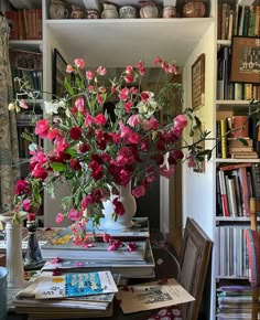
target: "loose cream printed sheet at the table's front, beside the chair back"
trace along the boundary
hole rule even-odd
[[[174,278],[121,287],[116,294],[123,313],[163,308],[195,300]]]

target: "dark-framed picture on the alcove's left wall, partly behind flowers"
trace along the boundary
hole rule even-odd
[[[62,97],[65,93],[64,79],[66,76],[67,63],[58,52],[54,49],[53,52],[53,98]]]

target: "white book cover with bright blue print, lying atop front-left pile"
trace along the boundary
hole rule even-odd
[[[35,299],[71,298],[117,291],[118,288],[110,271],[66,274],[41,277]]]

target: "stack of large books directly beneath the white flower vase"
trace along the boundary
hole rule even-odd
[[[108,269],[120,274],[122,279],[129,278],[153,278],[154,257],[150,243],[150,230],[148,217],[133,218],[133,227],[127,230],[105,230],[102,220],[100,227],[93,230],[88,226],[87,235],[89,245],[75,245],[71,228],[59,231],[56,236],[41,246],[41,252],[46,264],[43,270],[56,268],[65,271],[89,271]],[[104,234],[109,234],[113,239],[119,239],[121,247],[109,250],[109,244],[102,241]],[[95,234],[95,238],[93,235]],[[134,243],[133,250],[128,250],[128,245]],[[53,259],[58,263],[53,263]]]

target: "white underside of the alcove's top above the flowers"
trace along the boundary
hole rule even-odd
[[[213,23],[213,18],[46,20],[67,56],[84,58],[88,67],[124,67],[144,57],[151,67],[156,56],[182,66]]]

